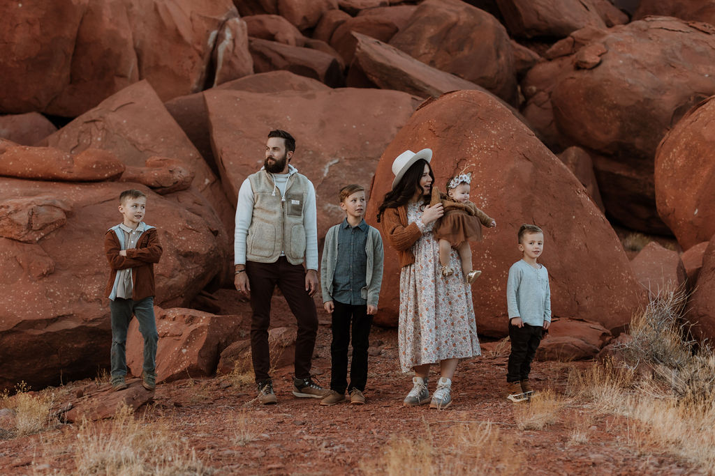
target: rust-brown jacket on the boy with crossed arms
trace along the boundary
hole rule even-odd
[[[109,298],[114,288],[117,270],[132,268],[132,300],[142,300],[155,295],[154,263],[159,263],[162,245],[159,244],[157,228],[149,228],[139,237],[136,248],[129,248],[127,255],[119,255],[122,250],[117,233],[110,229],[104,235],[104,253],[109,261],[109,281],[104,295]]]

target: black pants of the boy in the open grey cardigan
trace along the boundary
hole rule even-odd
[[[345,389],[357,388],[365,391],[368,383],[368,347],[370,347],[370,327],[373,316],[368,315],[367,305],[350,305],[333,301],[332,343],[330,357],[332,370],[330,389],[345,393]],[[350,386],[347,385],[347,345],[350,343],[350,323],[352,320],[352,365],[350,365]]]

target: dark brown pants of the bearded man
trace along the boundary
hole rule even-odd
[[[275,263],[246,262],[246,273],[251,286],[251,357],[256,383],[270,380],[270,350],[268,327],[270,303],[277,285],[298,324],[295,340],[295,377],[310,377],[310,360],[315,348],[317,312],[315,301],[305,290],[305,269],[288,263],[281,256]]]

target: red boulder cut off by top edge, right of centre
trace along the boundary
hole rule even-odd
[[[584,26],[605,28],[590,0],[496,0],[512,36],[563,38]]]

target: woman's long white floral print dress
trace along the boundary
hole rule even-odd
[[[418,203],[407,206],[408,223],[422,218]],[[415,263],[400,274],[400,323],[398,343],[400,366],[407,373],[415,365],[438,363],[450,358],[480,355],[477,325],[472,305],[472,290],[464,282],[456,250],[450,253],[455,273],[440,274],[439,243],[433,223],[423,226],[423,235],[412,251]]]

